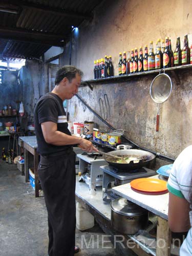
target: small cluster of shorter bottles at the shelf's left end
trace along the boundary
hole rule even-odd
[[[112,56],[94,60],[94,79],[114,76]]]

